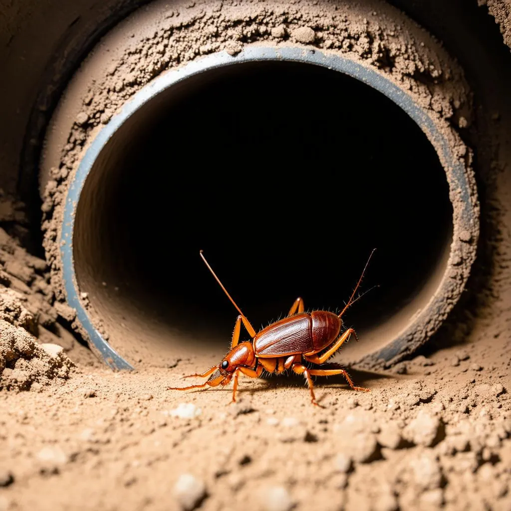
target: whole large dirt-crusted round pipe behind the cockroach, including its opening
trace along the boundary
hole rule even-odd
[[[462,73],[388,6],[376,48],[372,10],[343,21],[350,46],[325,5],[315,29],[267,14],[243,39],[219,35],[234,8],[183,22],[155,4],[69,84],[42,160],[44,245],[75,328],[112,368],[221,356],[237,313],[199,249],[266,325],[297,296],[342,308],[377,248],[361,291],[379,287],[344,318],[360,337],[346,363],[401,360],[456,304],[479,229]]]

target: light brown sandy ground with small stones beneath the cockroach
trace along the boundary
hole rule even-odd
[[[318,379],[321,408],[299,377],[244,379],[231,405],[230,388],[166,390],[213,359],[79,363],[0,392],[0,509],[511,509],[510,358],[488,325],[393,373],[353,371],[368,393]]]

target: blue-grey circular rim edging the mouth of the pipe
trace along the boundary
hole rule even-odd
[[[306,49],[303,47],[262,47],[253,46],[246,47],[236,56],[231,56],[227,52],[219,52],[208,55],[192,61],[178,69],[173,69],[167,73],[160,75],[148,85],[128,100],[122,109],[115,114],[109,123],[103,127],[91,141],[89,147],[85,151],[78,169],[69,183],[65,206],[63,212],[63,223],[61,229],[60,252],[62,258],[63,286],[67,295],[67,303],[76,310],[78,321],[89,336],[91,348],[95,350],[104,362],[112,369],[133,369],[133,366],[119,355],[108,342],[102,337],[100,332],[95,328],[87,311],[84,309],[80,300],[80,290],[76,279],[74,255],[73,255],[73,232],[74,219],[80,195],[83,190],[85,181],[89,172],[92,170],[97,157],[106,146],[113,134],[120,126],[139,108],[151,101],[160,92],[180,83],[194,75],[202,72],[211,71],[228,65],[234,65],[246,62],[263,62],[263,61],[293,61],[305,64],[314,64],[332,69],[334,71],[344,73],[352,78],[362,81],[363,83],[373,87],[381,92],[387,98],[392,100],[400,108],[402,108],[409,117],[421,128],[426,137],[433,145],[435,151],[440,157],[440,161],[446,171],[450,194],[455,189],[463,207],[456,214],[454,210],[453,224],[455,227],[453,240],[451,244],[450,254],[456,250],[462,250],[463,243],[467,242],[467,235],[461,239],[456,235],[456,229],[459,232],[468,233],[469,242],[476,241],[478,238],[478,217],[472,207],[474,200],[474,191],[471,182],[467,176],[467,169],[462,160],[457,158],[450,147],[447,138],[439,131],[435,121],[430,117],[428,112],[417,104],[413,98],[406,94],[396,83],[384,76],[382,73],[370,68],[360,62],[342,57],[338,54],[319,51],[316,49]],[[452,201],[451,201],[452,202]],[[464,283],[470,274],[475,256],[471,256],[468,265],[458,269],[458,273],[462,273],[463,286],[457,288],[457,285],[449,278],[449,270],[452,268],[452,257],[449,258],[447,268],[445,270],[442,281],[433,293],[429,302],[423,310],[417,314],[412,322],[391,342],[383,348],[370,353],[362,358],[383,359],[384,361],[396,360],[400,354],[403,354],[409,343],[414,340],[415,333],[419,328],[427,326],[428,334],[421,342],[416,342],[414,348],[426,342],[443,322],[443,319],[435,319],[445,317],[446,313],[454,307],[459,298]],[[446,304],[443,297],[450,296],[449,303]],[[404,355],[403,355],[404,356]],[[397,360],[396,360],[397,361]]]

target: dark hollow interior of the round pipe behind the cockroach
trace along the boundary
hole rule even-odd
[[[76,210],[74,260],[109,342],[132,362],[220,357],[237,315],[258,329],[340,310],[367,257],[370,291],[343,319],[354,356],[387,344],[436,291],[453,210],[419,126],[368,85],[295,62],[224,66],[138,109],[111,137]],[[342,357],[341,357],[342,359]]]

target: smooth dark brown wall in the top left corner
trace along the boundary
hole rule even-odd
[[[138,2],[141,4],[142,2]],[[73,51],[79,51],[88,34],[100,32],[115,10],[128,12],[135,2],[108,0],[2,0],[0,2],[0,188],[7,193],[16,181],[25,131],[39,84],[50,62],[59,55],[54,71],[66,73]],[[58,77],[55,77],[58,78]]]

